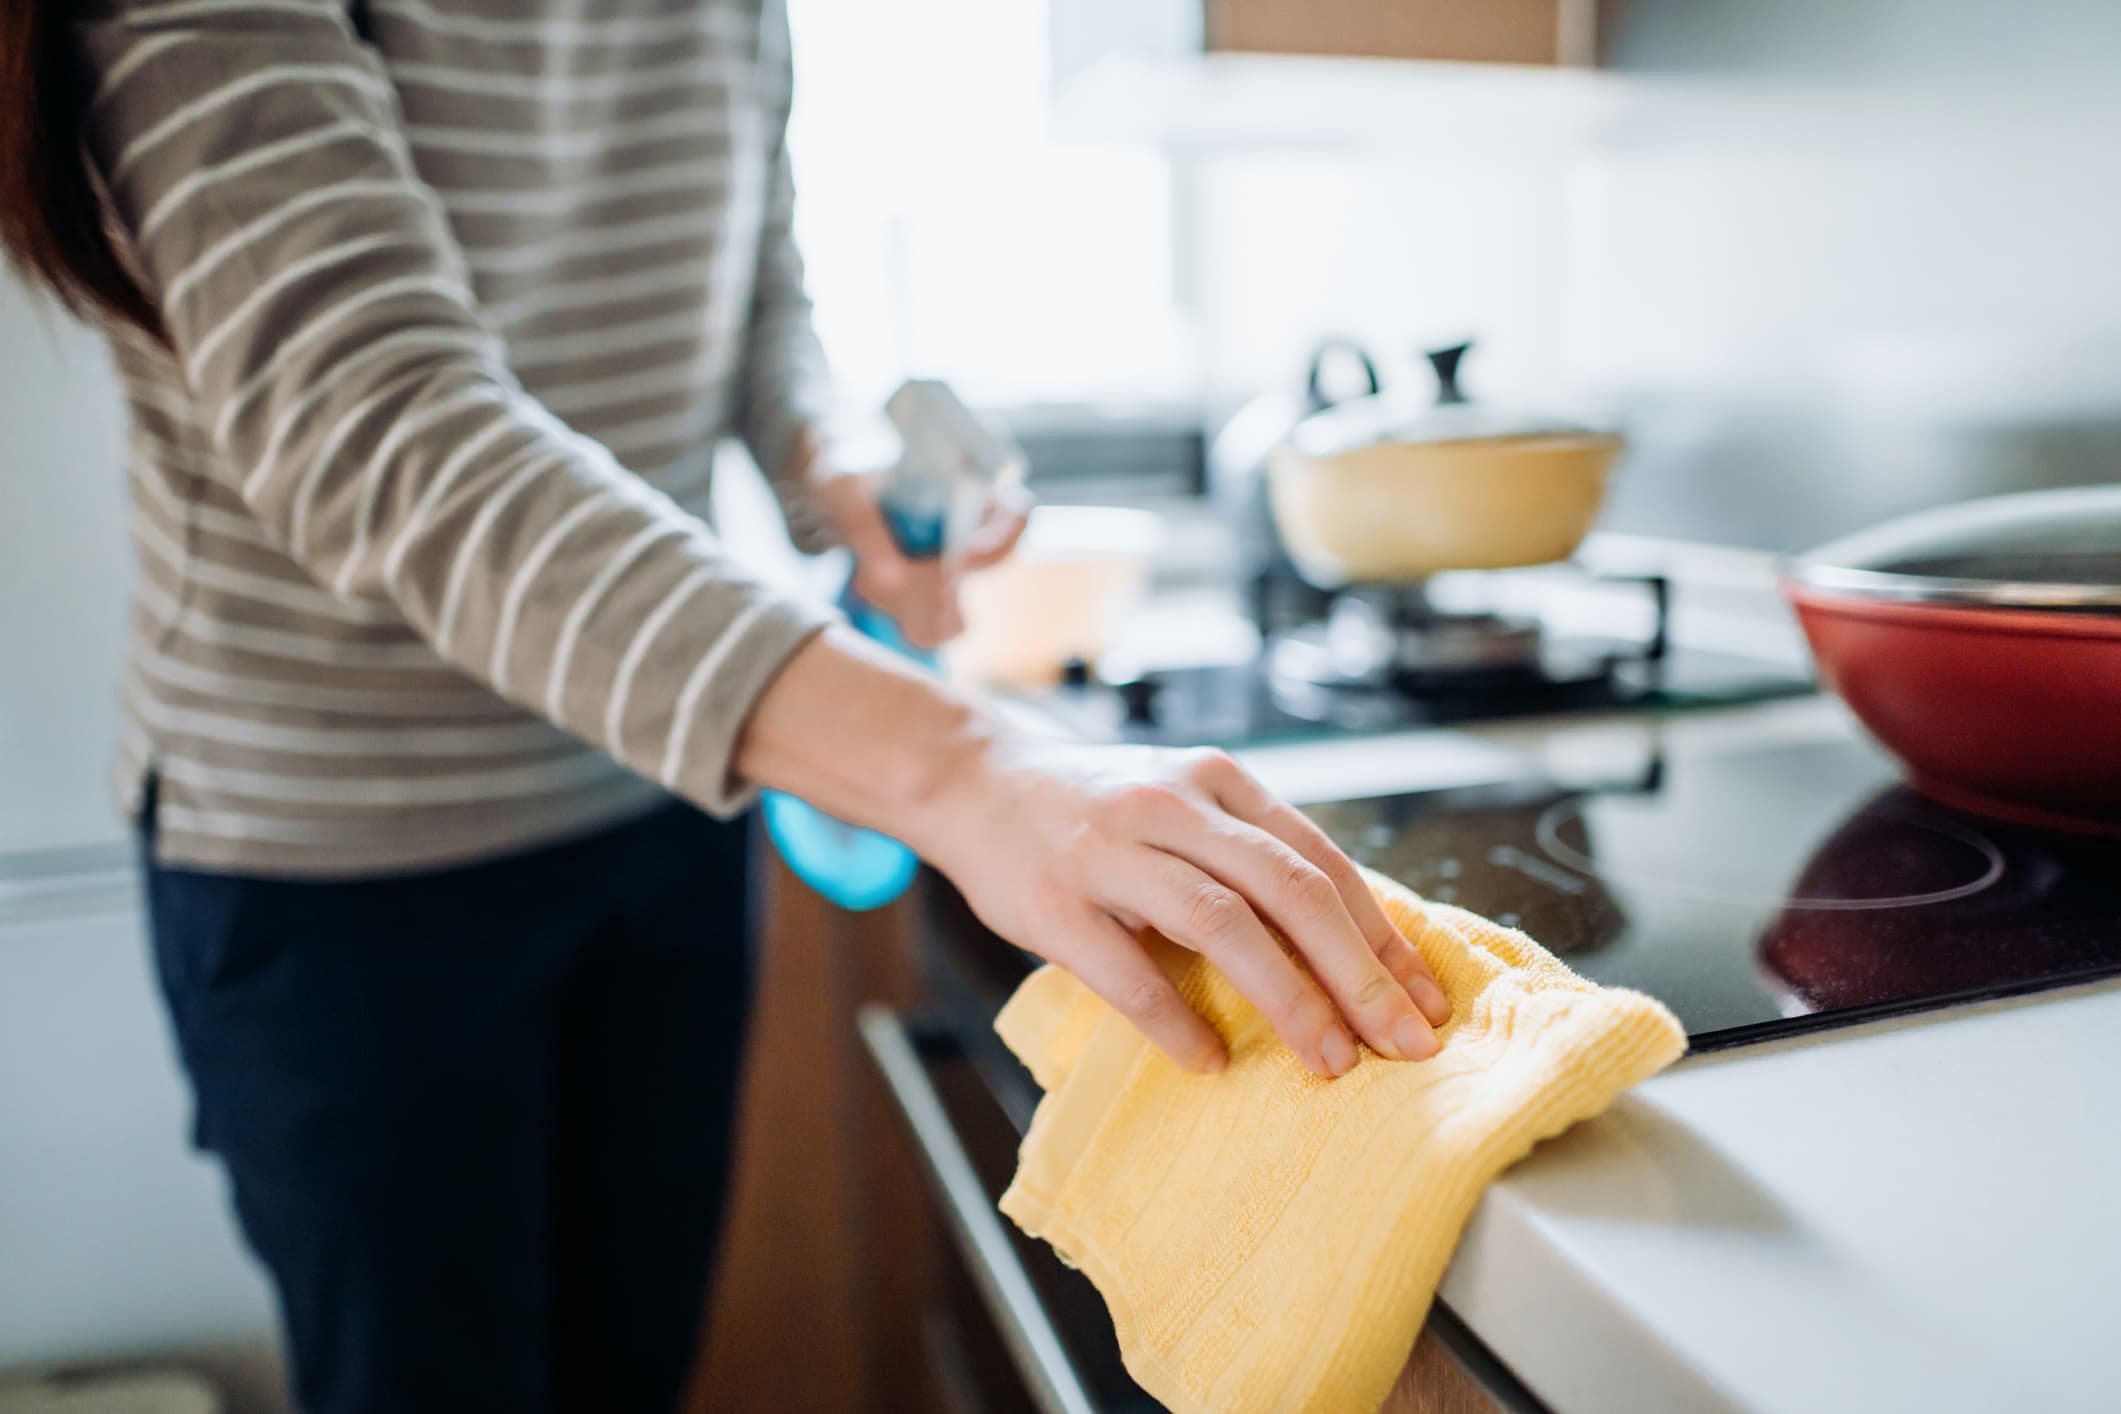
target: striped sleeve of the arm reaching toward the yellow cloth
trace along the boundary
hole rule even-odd
[[[713,810],[829,617],[507,371],[375,55],[335,0],[83,21],[91,155],[235,490],[308,575]]]

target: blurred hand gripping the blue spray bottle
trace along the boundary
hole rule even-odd
[[[876,505],[878,483],[876,475],[840,475],[823,481],[817,498],[855,553],[855,594],[884,611],[916,649],[940,649],[965,632],[959,581],[1016,549],[1031,498],[1022,492],[997,498],[967,545],[940,560],[910,560]]]

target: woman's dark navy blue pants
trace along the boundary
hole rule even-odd
[[[308,1414],[670,1414],[751,990],[744,825],[462,869],[148,869],[155,962]]]

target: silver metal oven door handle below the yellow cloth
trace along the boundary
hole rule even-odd
[[[861,1009],[857,1024],[876,1068],[882,1071],[884,1083],[891,1088],[891,1098],[897,1100],[899,1113],[912,1130],[935,1191],[942,1196],[942,1208],[950,1219],[950,1234],[957,1238],[965,1266],[971,1268],[980,1295],[986,1300],[1039,1410],[1044,1414],[1094,1414],[1082,1376],[1069,1361],[1060,1333],[1033,1291],[1031,1276],[1018,1261],[986,1189],[980,1187],[971,1157],[950,1126],[942,1096],[921,1064],[906,1022],[893,1009],[872,1003]]]

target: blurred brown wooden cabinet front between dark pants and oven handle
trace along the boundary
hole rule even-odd
[[[768,859],[736,1174],[687,1414],[933,1410],[940,1236],[855,1009],[914,990],[912,903],[844,914]]]

